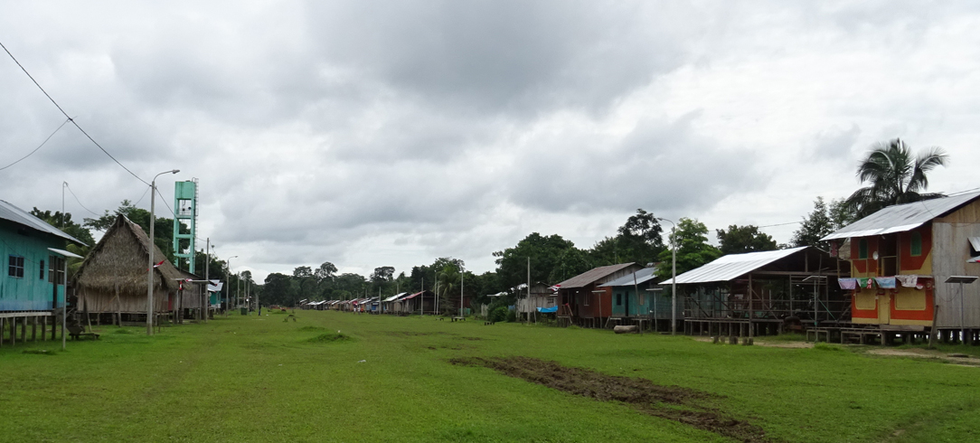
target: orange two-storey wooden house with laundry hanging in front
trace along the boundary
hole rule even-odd
[[[962,292],[946,282],[980,275],[980,192],[890,206],[823,240],[850,240],[857,280],[843,284],[853,288],[856,324],[914,332],[935,321],[946,339],[980,333],[980,282]]]

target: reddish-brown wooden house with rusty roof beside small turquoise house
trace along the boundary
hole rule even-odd
[[[613,288],[599,286],[641,269],[643,267],[635,263],[599,267],[557,284],[558,319],[564,324],[605,326],[605,320],[613,315]]]

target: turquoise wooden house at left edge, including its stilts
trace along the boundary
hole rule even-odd
[[[84,243],[24,210],[0,200],[0,257],[7,269],[0,277],[0,346],[51,338],[66,303],[65,259],[68,244]],[[72,313],[69,312],[71,319]],[[19,327],[20,326],[20,327]],[[20,331],[18,330],[20,329]]]

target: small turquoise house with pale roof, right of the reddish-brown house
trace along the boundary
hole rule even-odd
[[[656,272],[657,268],[644,268],[599,286],[613,290],[612,323],[670,330],[670,295],[656,284]],[[683,319],[680,305],[677,319]]]

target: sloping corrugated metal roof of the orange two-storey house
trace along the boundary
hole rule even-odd
[[[858,222],[853,222],[844,226],[834,233],[821,238],[821,240],[832,240],[835,238],[867,237],[871,235],[883,235],[892,232],[905,232],[914,229],[922,224],[929,222],[937,217],[956,210],[977,197],[980,192],[970,192],[953,197],[943,197],[932,200],[925,200],[905,205],[889,206]]]

